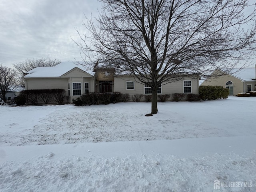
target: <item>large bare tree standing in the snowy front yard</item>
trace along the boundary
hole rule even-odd
[[[250,0],[100,0],[103,11],[76,43],[84,61],[102,62],[152,88],[184,74],[209,76],[234,68],[255,52],[255,2]],[[245,12],[245,8],[252,10]]]

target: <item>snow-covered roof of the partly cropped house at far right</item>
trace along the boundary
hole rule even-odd
[[[224,70],[225,71],[225,70]],[[231,75],[240,78],[244,81],[252,81],[256,78],[256,69],[255,68],[234,68],[229,72]]]

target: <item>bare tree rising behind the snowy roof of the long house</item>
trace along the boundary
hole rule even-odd
[[[19,62],[13,64],[14,68],[17,70],[19,78],[19,84],[25,86],[22,76],[24,73],[36,68],[36,67],[53,67],[59,64],[60,60],[51,60],[50,58],[40,58],[40,59],[27,59],[24,62]]]

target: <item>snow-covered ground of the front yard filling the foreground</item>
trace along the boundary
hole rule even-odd
[[[143,102],[0,106],[0,191],[254,192],[255,107],[159,102],[146,117]]]

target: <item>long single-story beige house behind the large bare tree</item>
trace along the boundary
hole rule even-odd
[[[61,88],[73,98],[88,92],[122,92],[130,96],[134,94],[151,94],[151,88],[147,84],[136,82],[136,79],[127,75],[115,75],[114,68],[98,68],[97,64],[93,72],[86,71],[82,66],[73,62],[61,62],[54,67],[37,67],[27,72],[25,79],[26,89],[51,89]],[[198,94],[198,75],[186,75],[176,82],[162,84],[158,88],[158,94]]]

